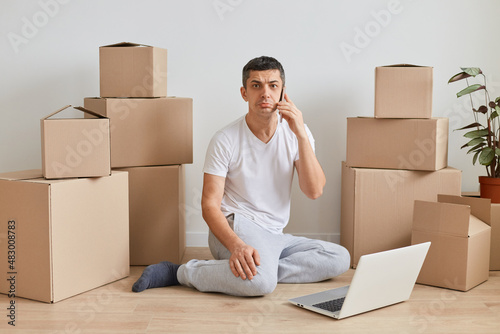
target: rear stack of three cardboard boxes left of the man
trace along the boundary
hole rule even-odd
[[[185,249],[183,164],[193,162],[193,101],[167,96],[167,50],[100,47],[100,98],[84,106],[110,119],[111,167],[127,171],[130,264],[180,262]],[[90,116],[92,117],[92,116]]]

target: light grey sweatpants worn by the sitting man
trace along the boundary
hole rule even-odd
[[[318,282],[349,269],[349,252],[342,246],[290,234],[275,234],[241,216],[230,216],[233,231],[260,255],[252,280],[235,277],[229,268],[231,253],[210,232],[209,246],[216,260],[191,260],[177,272],[180,284],[203,292],[235,296],[271,293],[277,283]]]

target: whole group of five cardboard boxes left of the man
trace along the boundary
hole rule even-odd
[[[181,260],[192,99],[166,97],[166,52],[101,47],[102,97],[41,120],[41,171],[0,174],[1,293],[57,302]]]

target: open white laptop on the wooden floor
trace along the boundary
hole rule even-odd
[[[350,285],[289,301],[335,319],[403,302],[410,298],[430,245],[363,255]]]

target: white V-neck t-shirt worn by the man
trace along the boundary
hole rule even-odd
[[[306,126],[314,150],[314,138]],[[298,141],[286,120],[266,144],[248,128],[245,116],[219,130],[208,145],[203,172],[226,178],[221,210],[239,213],[281,233],[290,217]]]

